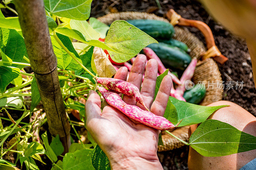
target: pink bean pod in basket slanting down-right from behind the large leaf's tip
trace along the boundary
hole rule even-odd
[[[164,67],[164,64],[161,62],[160,58],[156,55],[156,53],[148,47],[143,48],[143,51],[145,53],[145,55],[149,58],[149,59],[155,59],[158,63],[158,72],[160,74],[163,74],[164,71],[166,70],[166,68]],[[170,71],[168,71],[168,74],[170,76],[172,76],[172,81],[174,83],[176,83],[177,85],[181,84],[179,78],[177,78],[174,74],[172,74]]]

